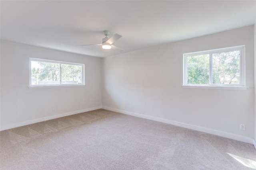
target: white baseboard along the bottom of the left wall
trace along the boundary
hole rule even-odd
[[[91,107],[91,108],[88,108],[88,109],[71,111],[71,112],[68,112],[68,113],[61,113],[61,114],[58,114],[58,115],[42,117],[42,118],[39,118],[39,119],[33,119],[33,120],[23,121],[23,122],[18,122],[18,123],[12,123],[12,124],[9,124],[9,125],[0,126],[0,131],[4,131],[4,130],[7,130],[7,129],[12,129],[12,128],[15,128],[15,127],[20,127],[20,126],[30,125],[30,124],[38,123],[38,122],[41,122],[41,121],[56,119],[56,118],[59,118],[59,117],[64,117],[64,116],[74,115],[74,114],[78,114],[78,113],[83,113],[83,112],[86,112],[86,111],[101,109],[101,108],[102,108],[102,106]]]

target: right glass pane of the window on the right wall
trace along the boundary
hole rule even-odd
[[[240,51],[212,54],[212,83],[240,84]]]

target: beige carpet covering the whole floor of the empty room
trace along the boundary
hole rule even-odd
[[[1,131],[0,140],[1,170],[256,169],[251,144],[104,109]]]

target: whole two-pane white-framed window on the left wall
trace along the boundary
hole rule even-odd
[[[30,87],[84,85],[84,64],[30,58]]]

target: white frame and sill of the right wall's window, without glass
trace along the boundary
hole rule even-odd
[[[212,54],[229,51],[240,51],[240,84],[212,84]],[[209,84],[188,84],[188,67],[187,57],[196,55],[209,55]],[[208,51],[199,51],[194,53],[183,54],[183,88],[213,88],[213,89],[230,89],[246,90],[245,86],[245,45],[214,49]]]

